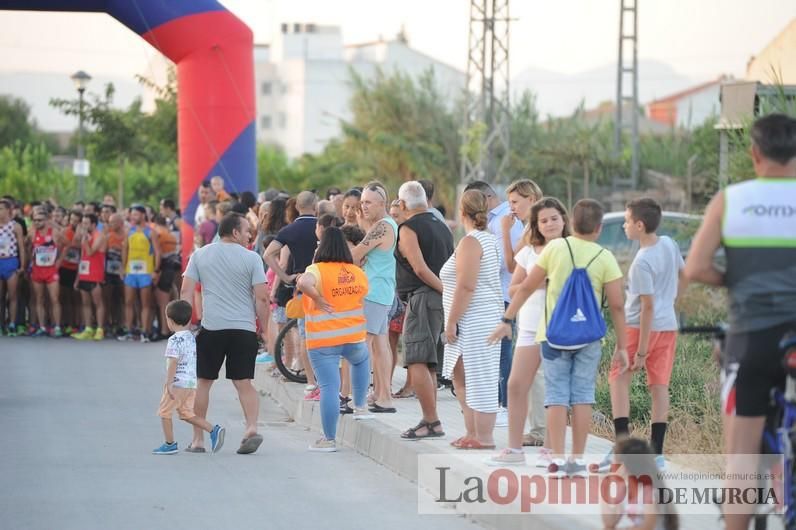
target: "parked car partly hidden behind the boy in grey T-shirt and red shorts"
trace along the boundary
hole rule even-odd
[[[680,247],[683,258],[688,255],[691,240],[694,239],[700,223],[701,215],[680,212],[663,212],[659,236],[671,237]],[[638,241],[631,241],[625,235],[625,212],[610,212],[603,216],[603,230],[597,243],[613,252],[620,262],[630,262],[638,251]]]

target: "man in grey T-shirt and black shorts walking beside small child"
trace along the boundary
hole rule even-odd
[[[257,433],[260,400],[252,385],[257,356],[257,323],[268,322],[269,297],[263,262],[249,243],[249,222],[237,213],[224,216],[220,241],[197,250],[188,261],[181,298],[193,301],[196,283],[202,285],[202,328],[196,337],[196,402],[194,412],[204,418],[210,387],[226,360],[226,376],[238,391],[246,431],[239,454],[253,453],[263,441]],[[194,429],[191,452],[204,452],[204,431]]]

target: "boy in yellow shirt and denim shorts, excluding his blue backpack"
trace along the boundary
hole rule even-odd
[[[602,355],[599,339],[570,347],[552,346],[547,340],[546,328],[550,316],[575,267],[586,268],[597,303],[603,296],[608,302],[617,337],[613,363],[620,371],[626,370],[628,364],[622,271],[614,255],[596,243],[602,230],[602,218],[603,208],[599,202],[583,199],[575,204],[572,210],[573,235],[551,241],[545,247],[536,265],[514,294],[503,316],[503,323],[490,337],[490,341],[498,341],[511,335],[511,323],[520,307],[534,291],[544,287],[547,278],[546,311],[537,328],[536,340],[542,345],[544,358],[547,429],[553,450],[549,472],[555,478],[567,475],[585,477],[588,473],[583,451],[591,426],[597,368]],[[580,310],[572,317],[578,318],[583,318]],[[564,460],[567,411],[570,408],[572,454],[569,460]]]

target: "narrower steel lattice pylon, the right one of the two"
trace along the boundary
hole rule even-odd
[[[628,52],[630,62],[626,63]],[[634,190],[638,187],[640,167],[638,109],[638,0],[619,0],[619,60],[616,65],[614,154],[617,159],[623,155],[623,133],[629,129],[631,163],[629,177],[622,174],[614,175],[614,189]]]

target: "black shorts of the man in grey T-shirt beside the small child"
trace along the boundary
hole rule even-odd
[[[254,379],[257,334],[243,329],[210,331],[202,328],[196,336],[196,376],[218,379],[224,359],[227,379]]]

